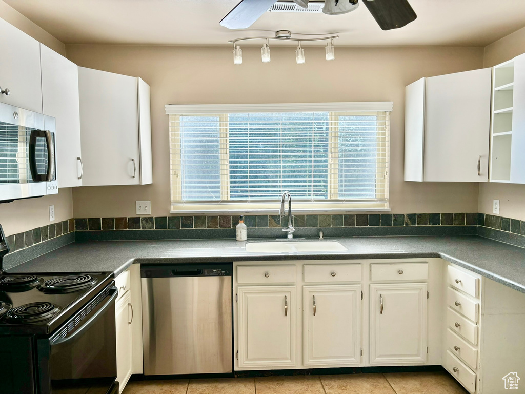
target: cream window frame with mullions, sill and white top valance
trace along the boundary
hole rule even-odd
[[[366,101],[366,102],[331,102],[331,103],[276,103],[276,104],[218,104],[218,105],[187,105],[169,104],[165,106],[166,114],[169,115],[169,138],[170,138],[170,197],[172,214],[272,214],[276,211],[279,201],[275,200],[229,200],[229,165],[228,165],[228,113],[240,112],[329,112],[329,165],[338,169],[339,152],[337,137],[339,128],[335,122],[336,116],[342,112],[355,112],[355,115],[366,115],[363,112],[386,112],[387,126],[385,127],[385,141],[390,141],[390,112],[392,101]],[[182,172],[182,153],[180,136],[180,116],[218,116],[220,130],[220,175],[226,182],[220,184],[220,200],[217,201],[182,201],[182,181],[177,174]],[[172,150],[175,149],[176,153]],[[385,149],[389,149],[385,146]],[[178,153],[177,153],[178,152]],[[383,199],[337,199],[338,172],[329,171],[329,200],[327,201],[305,201],[293,202],[294,211],[302,214],[322,213],[345,213],[345,212],[372,212],[390,211],[388,189],[390,186],[390,152],[388,151],[388,162],[385,166],[387,180],[380,182],[380,174],[377,174],[377,183],[385,185]],[[178,180],[178,182],[177,182]],[[336,180],[336,182],[334,182]],[[177,187],[178,186],[178,187]],[[334,189],[335,186],[335,189]],[[178,200],[177,200],[178,199]],[[292,196],[293,199],[293,196]],[[332,200],[330,200],[332,199]],[[373,201],[372,201],[373,200]]]

